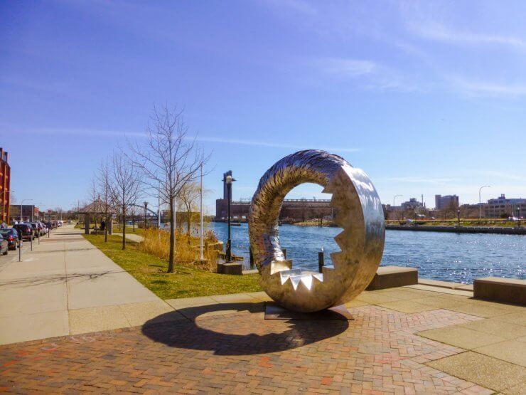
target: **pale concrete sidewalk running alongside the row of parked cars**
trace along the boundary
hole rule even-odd
[[[73,225],[0,267],[0,344],[141,325],[173,308]],[[4,257],[7,258],[7,257]]]

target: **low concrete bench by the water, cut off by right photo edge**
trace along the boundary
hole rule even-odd
[[[526,280],[485,277],[473,282],[475,299],[526,306]]]

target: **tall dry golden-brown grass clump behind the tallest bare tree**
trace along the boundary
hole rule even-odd
[[[168,260],[170,256],[170,233],[161,231],[157,228],[144,230],[144,241],[139,248],[145,253],[150,253],[161,259]],[[208,243],[218,241],[213,232],[205,232],[205,246]],[[205,248],[203,256],[207,263],[201,263],[199,251],[199,238],[187,236],[185,233],[176,230],[176,263],[179,265],[190,265],[193,268],[215,272],[218,268],[218,251]]]

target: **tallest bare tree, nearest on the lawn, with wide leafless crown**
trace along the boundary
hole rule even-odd
[[[183,111],[169,110],[166,106],[161,110],[154,107],[146,131],[144,145],[130,144],[134,153],[132,161],[144,173],[146,186],[155,191],[159,189],[161,200],[169,206],[168,273],[173,273],[176,251],[176,199],[188,183],[199,177],[199,169],[208,157],[205,158],[195,138],[188,138]]]

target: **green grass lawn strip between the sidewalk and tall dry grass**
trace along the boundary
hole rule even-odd
[[[183,265],[176,265],[176,273],[166,273],[168,262],[139,251],[138,243],[127,240],[126,250],[122,251],[120,236],[108,236],[107,243],[104,243],[103,235],[83,236],[161,299],[261,290],[257,274],[223,275]]]

